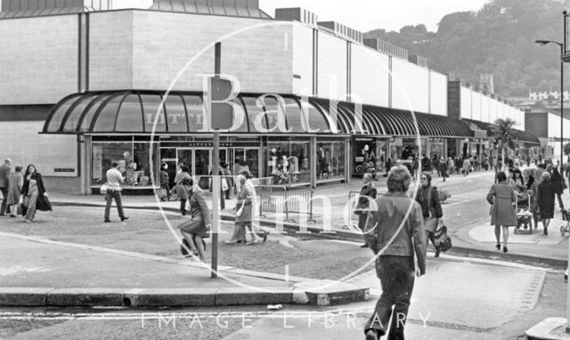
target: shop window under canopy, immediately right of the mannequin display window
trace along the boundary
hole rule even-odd
[[[345,155],[344,141],[317,142],[317,182],[344,179]]]

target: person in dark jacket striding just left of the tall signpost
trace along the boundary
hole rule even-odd
[[[190,198],[191,218],[181,223],[178,229],[185,240],[184,245],[190,248],[189,250],[192,255],[198,256],[200,262],[205,263],[204,239],[208,239],[208,231],[212,229],[210,209],[206,203],[206,194],[191,178],[186,178],[180,182],[180,187],[186,191]],[[183,255],[185,255],[184,251]]]

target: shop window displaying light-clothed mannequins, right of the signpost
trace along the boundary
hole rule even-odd
[[[268,142],[267,171],[273,184],[311,182],[310,142]]]

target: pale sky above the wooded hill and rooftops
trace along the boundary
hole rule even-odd
[[[302,7],[319,21],[338,21],[367,32],[384,28],[399,31],[406,25],[423,23],[429,31],[452,12],[480,10],[489,0],[259,0],[259,7],[274,17],[275,8]]]

